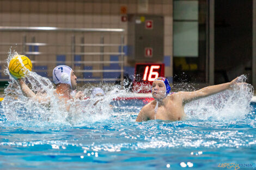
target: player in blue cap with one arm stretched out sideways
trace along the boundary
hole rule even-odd
[[[193,92],[180,91],[170,94],[170,85],[167,78],[156,78],[152,85],[152,96],[155,100],[142,108],[136,121],[142,122],[150,119],[179,121],[184,119],[184,105],[186,103],[194,99],[231,89],[234,84],[237,84],[237,79],[232,80],[230,83],[208,86]]]

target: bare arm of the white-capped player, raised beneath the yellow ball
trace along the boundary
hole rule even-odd
[[[44,94],[35,95],[35,93],[31,89],[29,89],[29,87],[22,79],[17,79],[17,81],[21,87],[23,94],[28,98],[34,98],[38,100],[39,103],[48,103],[48,101],[50,101],[49,98],[46,97]]]

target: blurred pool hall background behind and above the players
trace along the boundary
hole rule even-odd
[[[0,81],[11,47],[38,74],[65,64],[81,84],[133,79],[135,64],[150,62],[173,84],[246,74],[255,88],[255,14],[254,0],[1,0]]]

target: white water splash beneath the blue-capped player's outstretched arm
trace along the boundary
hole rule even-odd
[[[239,83],[231,90],[187,103],[187,119],[230,121],[245,118],[251,111],[249,103],[253,96],[253,86],[245,83],[246,79],[245,75],[241,75]]]

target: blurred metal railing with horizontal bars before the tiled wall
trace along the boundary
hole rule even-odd
[[[33,60],[33,64],[67,64],[70,65],[73,69],[75,68],[76,64],[99,64],[100,69],[96,70],[84,70],[84,69],[74,69],[76,73],[101,73],[100,78],[79,78],[78,81],[114,81],[114,80],[120,80],[123,82],[124,77],[124,29],[103,29],[103,28],[57,28],[57,27],[0,27],[0,33],[1,32],[15,32],[19,33],[20,36],[22,36],[22,42],[1,42],[0,40],[0,46],[19,46],[21,47],[21,51],[18,53],[23,55],[33,55],[33,56],[40,56],[40,55],[69,55],[71,56],[71,59],[68,61],[56,61],[56,60]],[[27,42],[27,34],[29,33],[38,33],[38,32],[62,32],[62,33],[72,33],[71,40],[69,43],[45,43],[45,42],[35,42],[35,37],[32,37],[32,42]],[[84,36],[81,37],[81,43],[76,43],[77,35],[76,33],[121,33],[120,35],[120,43],[104,43],[104,35],[101,35],[100,37],[100,43],[84,43]],[[48,52],[48,51],[27,51],[27,47],[70,47],[70,52],[65,53],[56,53],[56,52]],[[76,48],[80,47],[80,52],[76,51]],[[99,52],[86,52],[84,50],[84,47],[99,47]],[[117,49],[120,48],[121,51],[117,52],[105,52],[105,47],[116,47]],[[1,57],[0,64],[5,63],[7,52],[0,51],[0,56],[4,55],[4,59]],[[81,55],[81,56],[100,56],[100,61],[75,61],[75,56]],[[118,55],[119,61],[106,61],[104,60],[105,56],[109,55]],[[120,70],[103,70],[104,64],[119,64]],[[36,70],[35,70],[36,71]],[[45,70],[49,71],[50,70]],[[1,70],[3,72],[3,70]],[[120,72],[120,78],[103,78],[104,72]],[[0,81],[5,81],[6,79],[0,79]]]

